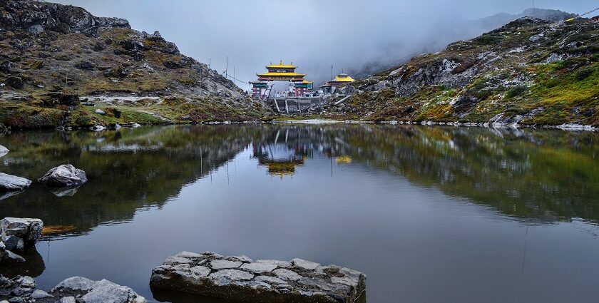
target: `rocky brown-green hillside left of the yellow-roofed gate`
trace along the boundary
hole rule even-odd
[[[232,81],[183,56],[158,32],[135,31],[125,19],[96,17],[80,7],[0,0],[0,50],[0,123],[16,128],[260,116]],[[73,95],[128,98],[94,98],[105,113],[116,108],[106,118],[77,108]],[[163,108],[165,99],[170,103]]]

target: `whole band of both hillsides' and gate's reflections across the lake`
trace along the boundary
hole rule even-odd
[[[599,222],[599,134],[384,125],[219,125],[121,129],[104,133],[15,132],[1,171],[36,179],[63,163],[86,170],[74,197],[34,183],[0,201],[0,213],[40,217],[53,237],[77,235],[135,211],[161,207],[185,184],[248,145],[269,173],[297,173],[314,155],[366,164],[418,185],[552,222]],[[332,162],[331,162],[332,163]]]

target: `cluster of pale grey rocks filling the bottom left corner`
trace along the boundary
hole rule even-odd
[[[145,303],[147,300],[130,289],[106,279],[92,281],[83,277],[71,277],[46,292],[36,289],[31,277],[6,279],[0,275],[0,300],[9,302],[37,303]]]

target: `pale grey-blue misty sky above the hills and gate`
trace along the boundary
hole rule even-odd
[[[59,0],[96,16],[128,19],[133,29],[160,31],[187,56],[255,80],[272,61],[292,61],[315,81],[372,61],[401,61],[470,38],[459,25],[500,12],[521,13],[523,0]],[[594,0],[536,0],[537,7],[582,14]],[[482,29],[481,29],[482,31]],[[237,83],[247,89],[249,85]]]

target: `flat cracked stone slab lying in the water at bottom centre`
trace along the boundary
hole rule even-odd
[[[153,269],[150,286],[239,302],[354,303],[366,291],[366,275],[302,259],[252,261],[180,252]]]

